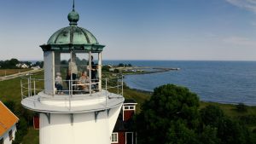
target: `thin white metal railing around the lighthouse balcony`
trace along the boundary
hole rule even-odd
[[[50,83],[45,79],[33,78],[31,75],[20,78],[21,99],[38,95],[39,92],[51,91],[52,95],[49,98],[54,98],[55,95],[91,95],[96,92],[106,91],[113,92],[118,95],[123,95],[123,76],[115,78],[91,79],[86,83],[81,83],[76,80],[62,80],[61,86],[55,84],[54,90],[44,89],[44,83]],[[102,84],[99,84],[102,83]],[[102,88],[99,87],[101,85]]]

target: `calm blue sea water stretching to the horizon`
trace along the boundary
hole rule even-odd
[[[179,71],[125,76],[133,89],[153,91],[163,84],[177,84],[199,95],[201,101],[256,106],[256,61],[105,60],[104,64],[178,67]]]

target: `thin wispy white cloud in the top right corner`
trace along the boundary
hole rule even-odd
[[[226,0],[241,9],[247,9],[256,13],[256,0]]]

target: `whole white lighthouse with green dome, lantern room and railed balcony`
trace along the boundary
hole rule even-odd
[[[40,46],[44,78],[21,79],[21,104],[39,113],[40,144],[110,144],[125,100],[122,77],[102,78],[104,46],[77,26],[74,5],[67,18],[70,26]]]

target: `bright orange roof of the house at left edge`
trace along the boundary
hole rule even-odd
[[[18,122],[19,118],[15,116],[8,107],[4,106],[3,102],[0,101],[0,135],[3,135],[9,130],[14,124]]]

